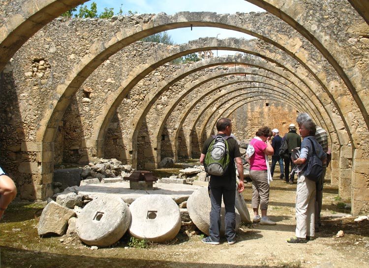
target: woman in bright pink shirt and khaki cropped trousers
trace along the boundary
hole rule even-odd
[[[263,126],[256,132],[256,137],[252,138],[250,141],[250,145],[252,145],[254,149],[254,153],[249,158],[250,178],[252,179],[251,207],[254,210],[253,222],[260,222],[261,225],[276,225],[274,221],[271,221],[267,217],[269,183],[272,181],[267,155],[274,154],[270,142],[271,136],[271,129],[267,126]],[[261,217],[259,215],[259,205]]]

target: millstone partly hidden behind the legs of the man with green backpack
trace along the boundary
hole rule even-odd
[[[211,202],[208,192],[208,187],[202,187],[194,191],[187,200],[188,214],[192,222],[200,229],[201,232],[209,236],[209,226],[210,226],[210,210]],[[236,210],[236,231],[240,228],[241,216]],[[224,216],[225,209],[222,203],[222,208],[220,209],[220,235],[224,236]]]

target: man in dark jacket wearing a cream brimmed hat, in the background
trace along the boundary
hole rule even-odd
[[[287,141],[288,145],[288,157],[284,157],[284,176],[286,178],[286,182],[293,184],[295,172],[290,174],[290,164],[291,164],[291,171],[295,167],[295,164],[292,162],[291,155],[292,149],[301,146],[301,137],[299,134],[296,133],[296,126],[295,124],[290,124],[288,126],[288,133],[284,135],[283,139]]]

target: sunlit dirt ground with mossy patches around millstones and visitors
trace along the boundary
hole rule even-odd
[[[174,240],[149,248],[128,247],[125,235],[112,247],[91,250],[75,237],[39,238],[36,224],[44,205],[13,202],[0,222],[0,264],[1,268],[369,268],[369,221],[357,223],[345,216],[349,211],[339,200],[337,187],[324,187],[322,227],[307,244],[286,242],[295,231],[296,184],[280,179],[271,184],[268,209],[277,225],[243,224],[234,245],[226,240],[207,245],[199,231],[188,237],[181,230]],[[250,204],[250,183],[244,197]],[[336,237],[339,230],[344,237]]]

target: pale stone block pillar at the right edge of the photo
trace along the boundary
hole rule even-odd
[[[351,213],[369,211],[369,151],[355,149],[352,169]]]

